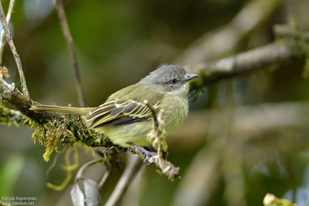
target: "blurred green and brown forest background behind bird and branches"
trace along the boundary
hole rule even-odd
[[[9,1],[1,2],[6,11]],[[250,22],[259,12],[268,12],[265,18],[246,32],[236,32],[237,41],[221,33],[221,46],[232,46],[214,50],[210,60],[272,42],[273,25],[287,23],[291,15],[300,30],[309,30],[308,0],[64,1],[87,106],[103,103],[160,64],[185,66],[181,55],[187,47],[202,36],[207,41],[208,36],[229,31],[232,19],[252,2],[264,9],[240,15],[240,22]],[[73,68],[53,2],[16,1],[10,27],[31,98],[78,106]],[[19,87],[7,45],[3,64],[12,76],[6,81]],[[121,205],[257,206],[267,192],[307,205],[309,82],[302,77],[303,65],[286,62],[204,87],[190,100],[182,127],[167,138],[169,160],[181,168],[182,179],[170,182],[155,172],[155,166],[146,166]],[[35,205],[71,205],[73,180],[63,191],[46,187],[48,181],[59,185],[66,177],[61,168],[64,155],[59,155],[47,179],[45,172],[56,153],[44,162],[45,148],[33,144],[33,132],[22,124],[0,125],[0,195],[36,196]],[[122,154],[124,163],[128,156]],[[79,147],[79,165],[91,159],[91,149]],[[115,168],[101,189],[103,202],[122,171]],[[98,181],[102,172],[104,166],[96,165],[86,176]],[[72,179],[75,174],[76,170]]]

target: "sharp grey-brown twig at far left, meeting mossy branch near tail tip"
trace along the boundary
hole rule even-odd
[[[4,15],[4,11],[3,11],[1,1],[0,1],[0,21],[1,21],[1,24],[2,24],[2,27],[3,27],[3,30],[6,34],[6,40],[11,47],[12,53],[13,53],[15,61],[16,61],[16,65],[17,65],[17,68],[18,68],[19,76],[20,76],[21,89],[23,91],[23,94],[26,95],[29,98],[29,92],[28,92],[25,76],[23,74],[23,67],[21,65],[19,55],[16,51],[16,48],[15,48],[15,45],[14,45],[14,42],[13,42],[13,38],[12,38],[12,35],[11,35],[11,31],[9,29],[9,25],[6,22],[6,18],[5,18],[5,15]]]

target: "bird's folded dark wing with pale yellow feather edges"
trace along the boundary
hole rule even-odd
[[[155,110],[159,102],[152,103]],[[92,109],[86,115],[90,128],[107,125],[129,124],[147,120],[152,117],[149,107],[135,100],[110,99],[99,107]]]

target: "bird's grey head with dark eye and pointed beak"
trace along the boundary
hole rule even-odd
[[[186,96],[189,92],[189,81],[197,77],[196,74],[188,74],[178,65],[165,65],[149,73],[141,79],[141,83],[149,89],[175,96]]]

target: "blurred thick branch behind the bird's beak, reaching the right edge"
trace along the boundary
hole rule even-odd
[[[306,49],[309,46],[307,36],[280,32],[282,32],[280,35],[285,38],[282,41],[275,41],[218,61],[202,62],[188,68],[188,72],[201,74],[203,85],[207,85],[220,79],[246,74],[273,64],[305,59]]]

